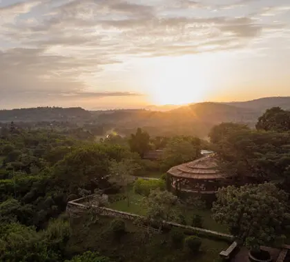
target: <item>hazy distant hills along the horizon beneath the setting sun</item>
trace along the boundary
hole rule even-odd
[[[242,122],[253,126],[258,117],[267,109],[280,106],[290,110],[290,97],[266,97],[241,102],[204,102],[189,105],[165,105],[164,110],[104,110],[88,111],[83,108],[23,108],[0,110],[0,121],[72,121],[94,122],[136,128],[138,126],[166,126],[182,130],[184,126],[212,126],[221,122]],[[167,108],[172,108],[166,110]],[[152,108],[152,107],[150,107]],[[159,110],[158,110],[159,109]],[[181,131],[180,131],[181,132]]]

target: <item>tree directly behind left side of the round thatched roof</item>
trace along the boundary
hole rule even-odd
[[[200,157],[200,139],[195,137],[173,137],[164,148],[163,169],[193,161]]]

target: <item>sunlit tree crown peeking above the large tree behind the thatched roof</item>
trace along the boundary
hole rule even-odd
[[[220,143],[229,134],[239,130],[249,130],[249,127],[240,123],[220,123],[211,129],[209,138],[211,139],[211,143]]]

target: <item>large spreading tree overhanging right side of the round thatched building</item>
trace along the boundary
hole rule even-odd
[[[287,177],[289,144],[287,132],[239,130],[216,144],[215,152],[219,169],[231,174],[235,183],[262,183]]]

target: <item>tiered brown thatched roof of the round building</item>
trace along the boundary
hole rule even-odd
[[[184,177],[186,179],[222,179],[227,177],[217,168],[215,154],[202,157],[195,161],[176,165],[168,170],[173,177]]]

